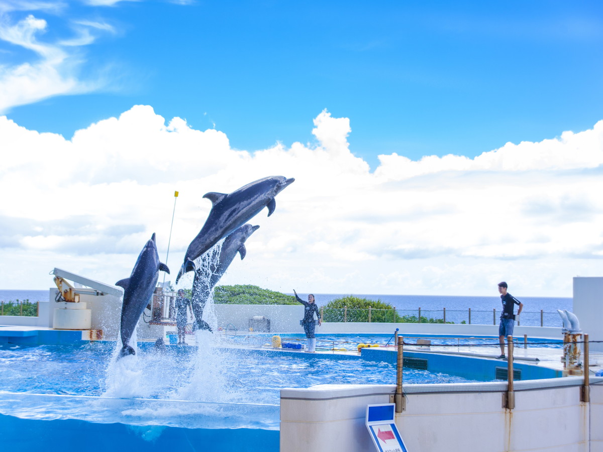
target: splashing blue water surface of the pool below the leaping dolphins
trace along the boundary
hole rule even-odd
[[[0,348],[0,413],[186,428],[279,428],[280,389],[393,384],[395,367],[358,356],[214,347],[155,351],[115,360],[115,342]],[[206,342],[203,342],[206,341]],[[404,379],[461,383],[461,377],[405,369]]]

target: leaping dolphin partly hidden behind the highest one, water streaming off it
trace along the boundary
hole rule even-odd
[[[245,240],[258,228],[259,226],[244,224],[224,239],[217,262],[214,261],[209,264],[209,281],[207,281],[207,277],[204,277],[202,268],[195,271],[195,279],[192,283],[191,305],[198,330],[212,331],[212,328],[202,319],[207,298],[209,298],[213,286],[216,285],[230,263],[235,259],[236,254],[239,253],[241,255],[241,260],[245,259],[245,255],[247,254]]]

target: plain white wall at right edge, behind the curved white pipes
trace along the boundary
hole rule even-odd
[[[573,313],[590,341],[603,341],[603,277],[573,278]]]

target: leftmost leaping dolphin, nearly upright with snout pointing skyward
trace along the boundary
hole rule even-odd
[[[119,327],[123,347],[119,351],[119,357],[136,354],[129,345],[130,338],[140,315],[153,295],[160,270],[169,274],[168,266],[159,262],[155,233],[153,233],[151,240],[140,251],[130,277],[115,283],[116,286],[124,287],[124,303],[121,306],[121,325]]]

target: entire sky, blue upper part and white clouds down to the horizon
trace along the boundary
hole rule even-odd
[[[204,193],[283,175],[222,283],[570,296],[602,52],[599,2],[0,0],[4,288],[113,283],[153,233],[175,274]]]

